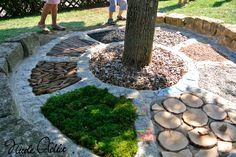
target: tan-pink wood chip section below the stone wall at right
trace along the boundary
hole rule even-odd
[[[215,50],[211,45],[204,43],[194,43],[181,48],[181,51],[188,57],[196,61],[226,61],[228,58]]]

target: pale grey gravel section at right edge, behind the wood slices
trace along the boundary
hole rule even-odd
[[[236,67],[231,65],[202,65],[198,67],[199,86],[225,99],[236,102]]]

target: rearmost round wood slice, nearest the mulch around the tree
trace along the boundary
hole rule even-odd
[[[182,94],[180,96],[180,99],[186,104],[188,105],[189,107],[195,107],[195,108],[198,108],[198,107],[201,107],[204,102],[202,101],[201,98],[199,98],[198,96],[195,96],[193,94]]]

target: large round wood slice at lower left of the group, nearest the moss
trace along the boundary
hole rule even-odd
[[[163,131],[157,140],[163,148],[169,151],[180,151],[188,145],[188,139],[178,131]]]

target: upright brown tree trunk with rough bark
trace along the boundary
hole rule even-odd
[[[142,68],[150,63],[157,5],[157,0],[128,0],[123,64]]]

